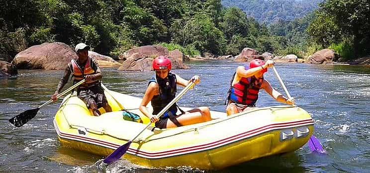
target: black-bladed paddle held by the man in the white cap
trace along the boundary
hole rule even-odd
[[[75,85],[71,86],[70,88],[68,88],[67,90],[63,91],[62,93],[58,94],[57,99],[60,98],[60,97],[62,97],[65,94],[67,94],[71,90],[75,89],[76,87],[78,87],[79,85],[81,85],[84,82],[85,82],[85,79],[83,79],[82,81],[80,81],[80,82],[76,83]],[[48,105],[49,103],[52,103],[52,102],[53,102],[53,100],[50,99],[49,101],[45,102],[44,104],[42,104],[41,106],[39,106],[39,107],[37,107],[35,109],[30,109],[30,110],[24,111],[24,112],[20,113],[19,115],[16,115],[16,116],[10,118],[9,119],[9,122],[12,123],[16,127],[21,127],[26,122],[28,122],[33,117],[35,117],[36,114],[37,114],[37,112],[42,107],[44,107],[44,106],[46,106],[46,105]]]

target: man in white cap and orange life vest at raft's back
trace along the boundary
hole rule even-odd
[[[51,96],[54,101],[62,90],[72,73],[74,83],[85,79],[85,83],[77,88],[77,96],[83,100],[95,116],[99,116],[98,108],[103,107],[106,112],[111,112],[111,108],[104,95],[104,90],[100,87],[102,77],[99,64],[95,58],[89,57],[90,47],[84,43],[79,43],[75,47],[78,59],[72,59],[68,63],[63,77],[60,79],[55,93]]]

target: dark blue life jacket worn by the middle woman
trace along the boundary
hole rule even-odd
[[[154,76],[152,79],[149,80],[148,85],[151,82],[156,82],[159,86],[159,95],[156,95],[151,100],[152,107],[153,107],[153,115],[157,115],[163,108],[165,108],[175,97],[176,97],[176,75],[172,74],[171,72],[168,73],[168,76],[165,79],[162,79],[158,76]],[[176,115],[178,111],[178,106],[176,103],[170,107],[165,114],[161,116],[161,118],[169,117],[169,112],[172,115]]]

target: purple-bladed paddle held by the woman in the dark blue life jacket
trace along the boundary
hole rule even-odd
[[[163,115],[168,109],[170,109],[170,107],[172,105],[175,104],[175,102],[177,102],[195,83],[193,81],[191,81],[189,84],[187,84],[187,86],[165,107],[162,109],[162,111],[160,111],[156,116],[157,117],[160,117],[161,115]],[[126,144],[123,144],[121,145],[120,147],[118,147],[116,150],[114,150],[112,153],[110,153],[110,155],[108,157],[106,157],[103,162],[105,164],[111,164],[115,161],[117,161],[118,159],[120,159],[128,150],[128,148],[130,147],[130,144],[132,143],[133,140],[135,140],[145,129],[147,129],[149,127],[149,125],[151,124],[151,122],[149,122],[145,128],[143,128],[138,134],[135,135],[135,137],[133,137],[131,140],[129,140]]]

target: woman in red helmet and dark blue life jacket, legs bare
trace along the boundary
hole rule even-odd
[[[190,80],[185,80],[179,75],[171,73],[171,67],[170,58],[165,56],[160,56],[153,60],[153,69],[156,74],[153,79],[149,80],[148,88],[139,107],[140,111],[151,122],[155,122],[156,127],[159,128],[178,127],[211,120],[207,107],[199,107],[184,112],[176,104],[159,118],[155,116],[176,97],[177,85],[185,87],[191,80],[196,84],[199,83],[198,75],[193,76]],[[152,104],[153,113],[146,109],[149,102]],[[181,114],[178,115],[178,111]]]

